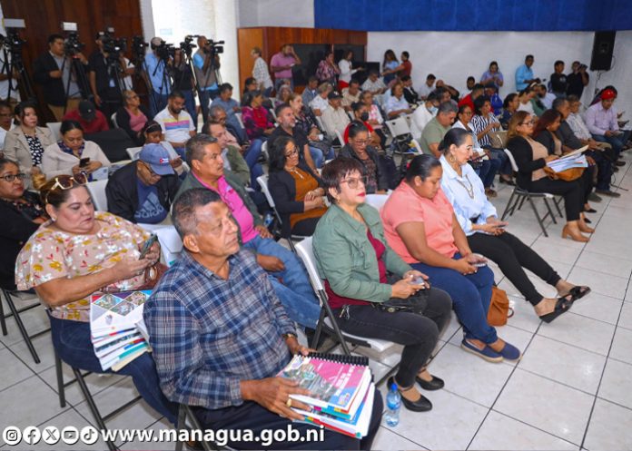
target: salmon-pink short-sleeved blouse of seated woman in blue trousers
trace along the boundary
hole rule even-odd
[[[420,197],[405,181],[400,183],[380,211],[384,236],[389,246],[407,263],[418,263],[397,233],[404,222],[423,222],[428,246],[439,254],[451,258],[459,250],[452,236],[454,209],[446,195],[437,191],[433,199]]]

